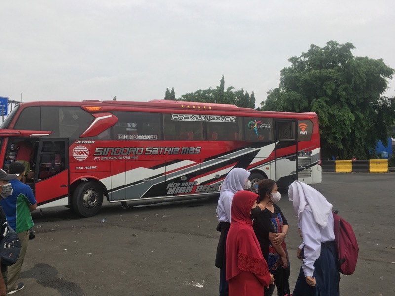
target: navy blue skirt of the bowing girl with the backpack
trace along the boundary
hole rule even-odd
[[[301,267],[292,296],[339,296],[340,274],[334,242],[321,243],[321,255],[314,262],[314,267],[316,286],[306,283]]]

